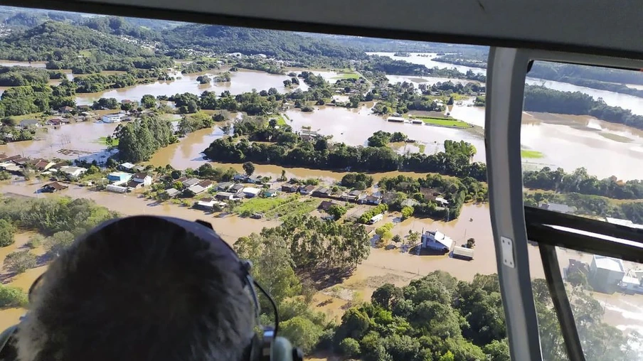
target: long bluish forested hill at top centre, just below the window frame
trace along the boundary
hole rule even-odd
[[[359,60],[361,50],[329,41],[301,36],[288,31],[273,31],[230,26],[189,24],[164,32],[169,48],[193,48],[213,53],[265,54],[285,60],[302,57],[328,57]]]

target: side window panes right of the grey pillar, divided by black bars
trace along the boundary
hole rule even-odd
[[[526,78],[521,129],[525,205],[643,227],[642,89],[639,72],[536,61]],[[529,248],[532,259],[539,257],[537,244]],[[638,265],[572,249],[557,254],[587,360],[638,360]],[[619,270],[603,276],[597,262]],[[531,269],[542,272],[541,261]],[[533,287],[546,284],[534,280]],[[560,360],[564,343],[560,329],[552,329],[551,298],[535,291],[534,299],[545,358]],[[548,346],[554,338],[560,347]]]

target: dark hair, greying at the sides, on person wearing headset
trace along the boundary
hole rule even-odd
[[[240,360],[254,304],[243,266],[216,242],[154,217],[78,239],[33,290],[19,359]]]

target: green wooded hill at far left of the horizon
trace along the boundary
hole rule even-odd
[[[0,39],[1,58],[9,60],[62,60],[81,50],[97,50],[109,55],[149,54],[139,46],[84,26],[48,21],[26,31],[14,31]]]

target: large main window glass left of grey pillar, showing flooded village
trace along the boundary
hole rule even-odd
[[[309,357],[509,359],[488,48],[7,7],[0,20],[1,326],[74,237],[172,215],[208,220],[253,261]]]

